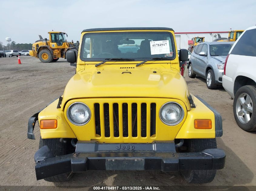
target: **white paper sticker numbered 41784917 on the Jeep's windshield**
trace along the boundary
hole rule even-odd
[[[170,46],[168,40],[150,41],[151,55],[154,54],[170,54]]]

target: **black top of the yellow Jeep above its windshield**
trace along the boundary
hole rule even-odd
[[[105,31],[105,30],[172,30],[172,28],[168,27],[120,27],[120,28],[92,28],[92,29],[85,29],[82,32],[88,31]]]

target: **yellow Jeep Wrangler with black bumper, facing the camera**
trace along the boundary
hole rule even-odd
[[[171,28],[83,30],[67,52],[76,74],[38,120],[37,180],[63,182],[87,170],[180,171],[191,183],[211,182],[225,153],[220,114],[189,93],[180,75],[188,51],[177,52]]]

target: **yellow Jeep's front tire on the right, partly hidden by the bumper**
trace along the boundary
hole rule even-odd
[[[189,152],[201,152],[208,148],[217,148],[215,138],[188,140]],[[204,184],[214,179],[216,170],[181,170],[181,174],[188,183]]]

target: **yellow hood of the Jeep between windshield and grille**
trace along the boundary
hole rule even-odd
[[[116,66],[75,74],[62,103],[81,97],[165,97],[182,100],[190,108],[188,95],[186,82],[176,70]]]

